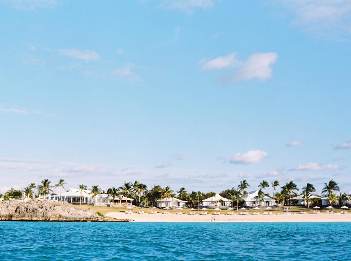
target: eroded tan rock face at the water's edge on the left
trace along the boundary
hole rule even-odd
[[[36,202],[0,202],[0,220],[33,221],[131,221],[100,217],[91,210]]]

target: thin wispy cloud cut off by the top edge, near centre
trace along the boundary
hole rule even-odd
[[[195,8],[207,9],[214,6],[212,0],[163,0],[158,7],[177,9],[191,14]]]

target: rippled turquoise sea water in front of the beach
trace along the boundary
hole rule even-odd
[[[350,225],[0,222],[0,260],[351,260]]]

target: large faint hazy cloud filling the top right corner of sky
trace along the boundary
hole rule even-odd
[[[326,39],[344,39],[351,33],[351,1],[349,0],[286,0],[295,15],[293,25]]]

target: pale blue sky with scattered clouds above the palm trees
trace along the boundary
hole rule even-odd
[[[1,0],[0,32],[0,193],[351,192],[350,1]]]

